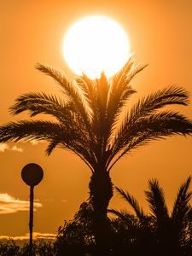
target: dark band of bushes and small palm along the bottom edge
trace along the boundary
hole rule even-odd
[[[191,177],[178,189],[172,212],[168,212],[163,189],[156,179],[148,181],[145,191],[150,212],[143,212],[134,196],[116,188],[134,213],[127,210],[108,210],[116,218],[108,218],[108,256],[191,256],[192,255],[192,207],[189,204],[192,191]],[[113,215],[113,216],[114,216]],[[0,242],[3,256],[94,256],[96,255],[94,208],[92,201],[85,201],[74,218],[65,221],[58,230],[55,241],[35,241],[30,254],[29,245],[18,247],[15,241]]]

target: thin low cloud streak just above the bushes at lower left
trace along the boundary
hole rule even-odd
[[[32,233],[32,239],[55,239],[56,234],[52,233],[40,233],[40,232],[33,232]],[[0,240],[5,239],[13,239],[13,240],[28,240],[29,239],[29,233],[26,233],[25,236],[0,236]]]

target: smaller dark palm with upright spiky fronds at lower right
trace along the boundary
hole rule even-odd
[[[169,213],[164,191],[160,187],[158,180],[150,179],[148,181],[148,191],[145,191],[146,200],[150,208],[149,215],[143,212],[142,207],[140,207],[134,196],[125,192],[123,189],[116,188],[119,195],[121,195],[134,210],[140,224],[140,233],[142,228],[145,230],[143,236],[145,244],[148,242],[148,246],[153,245],[152,240],[146,241],[146,238],[152,237],[146,235],[150,233],[153,234],[160,255],[166,255],[165,253],[170,255],[170,253],[167,252],[167,248],[172,250],[172,254],[177,255],[179,251],[181,252],[181,248],[187,245],[188,231],[192,224],[192,207],[189,204],[192,196],[192,191],[189,191],[190,182],[191,177],[189,176],[179,187],[176,199],[173,203],[172,212]],[[124,219],[124,221],[126,218],[129,221],[131,215],[130,212],[115,209],[111,209],[108,212],[114,213],[119,218]],[[153,225],[151,225],[151,221],[148,222],[148,220],[152,220]]]

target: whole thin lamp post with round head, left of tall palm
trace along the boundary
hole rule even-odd
[[[41,166],[31,163],[27,164],[21,170],[22,180],[26,185],[30,186],[30,211],[29,211],[29,248],[30,255],[32,255],[32,227],[33,227],[33,199],[34,199],[34,186],[37,186],[44,177],[44,171]]]

